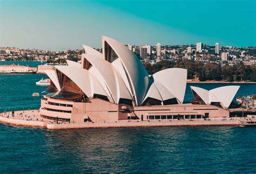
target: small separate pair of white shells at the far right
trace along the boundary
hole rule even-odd
[[[228,108],[240,86],[222,86],[210,91],[196,86],[190,86],[190,88],[196,92],[207,105],[210,105],[212,102],[219,102],[223,104],[225,108]]]

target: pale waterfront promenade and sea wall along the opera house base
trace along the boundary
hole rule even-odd
[[[38,110],[10,111],[0,113],[0,122],[17,126],[45,127],[48,129],[76,129],[76,128],[109,128],[109,127],[160,127],[160,126],[217,126],[237,125],[239,120],[250,118],[211,118],[185,120],[129,120],[113,122],[83,122],[72,124],[69,122],[56,123],[53,120],[43,120]]]

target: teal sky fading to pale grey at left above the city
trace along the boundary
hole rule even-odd
[[[106,35],[132,45],[256,46],[256,0],[0,0],[0,46],[101,48]]]

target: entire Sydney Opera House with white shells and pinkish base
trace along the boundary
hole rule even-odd
[[[210,91],[191,86],[194,99],[184,104],[187,70],[147,74],[126,46],[102,37],[103,53],[85,46],[81,63],[45,70],[51,79],[43,91],[44,119],[79,122],[172,120],[229,117],[239,86]]]

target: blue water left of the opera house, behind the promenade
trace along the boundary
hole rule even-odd
[[[42,92],[47,87],[36,82],[44,74],[0,74],[0,112],[40,107],[42,97],[32,97],[33,92]]]

